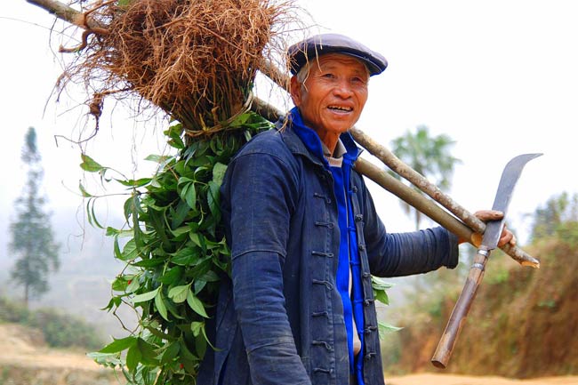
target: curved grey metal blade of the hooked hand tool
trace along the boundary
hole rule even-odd
[[[504,167],[502,178],[498,185],[498,191],[495,194],[494,205],[492,206],[492,210],[501,211],[504,215],[500,221],[487,222],[486,231],[484,231],[484,237],[482,239],[482,246],[484,246],[486,250],[493,250],[498,245],[498,241],[502,235],[506,213],[508,212],[508,206],[510,205],[510,200],[520,174],[526,163],[538,156],[542,156],[542,154],[518,155],[512,158]]]

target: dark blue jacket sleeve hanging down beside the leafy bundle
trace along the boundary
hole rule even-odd
[[[250,153],[228,173],[233,295],[253,385],[310,385],[283,293],[294,172],[277,156]]]

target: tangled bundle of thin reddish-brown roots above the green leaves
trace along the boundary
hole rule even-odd
[[[187,132],[221,130],[250,103],[254,77],[285,52],[291,1],[116,0],[92,4],[71,79],[95,95],[136,92]],[[66,49],[64,50],[66,51]]]

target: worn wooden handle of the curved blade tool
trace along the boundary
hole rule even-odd
[[[441,369],[445,369],[447,363],[454,352],[455,341],[457,341],[462,326],[470,312],[471,303],[476,298],[478,286],[484,277],[484,269],[486,269],[486,261],[489,256],[487,251],[478,251],[474,258],[474,263],[470,268],[470,274],[463,286],[460,298],[455,302],[454,310],[450,319],[447,321],[446,330],[438,342],[438,348],[431,357],[431,363]]]

